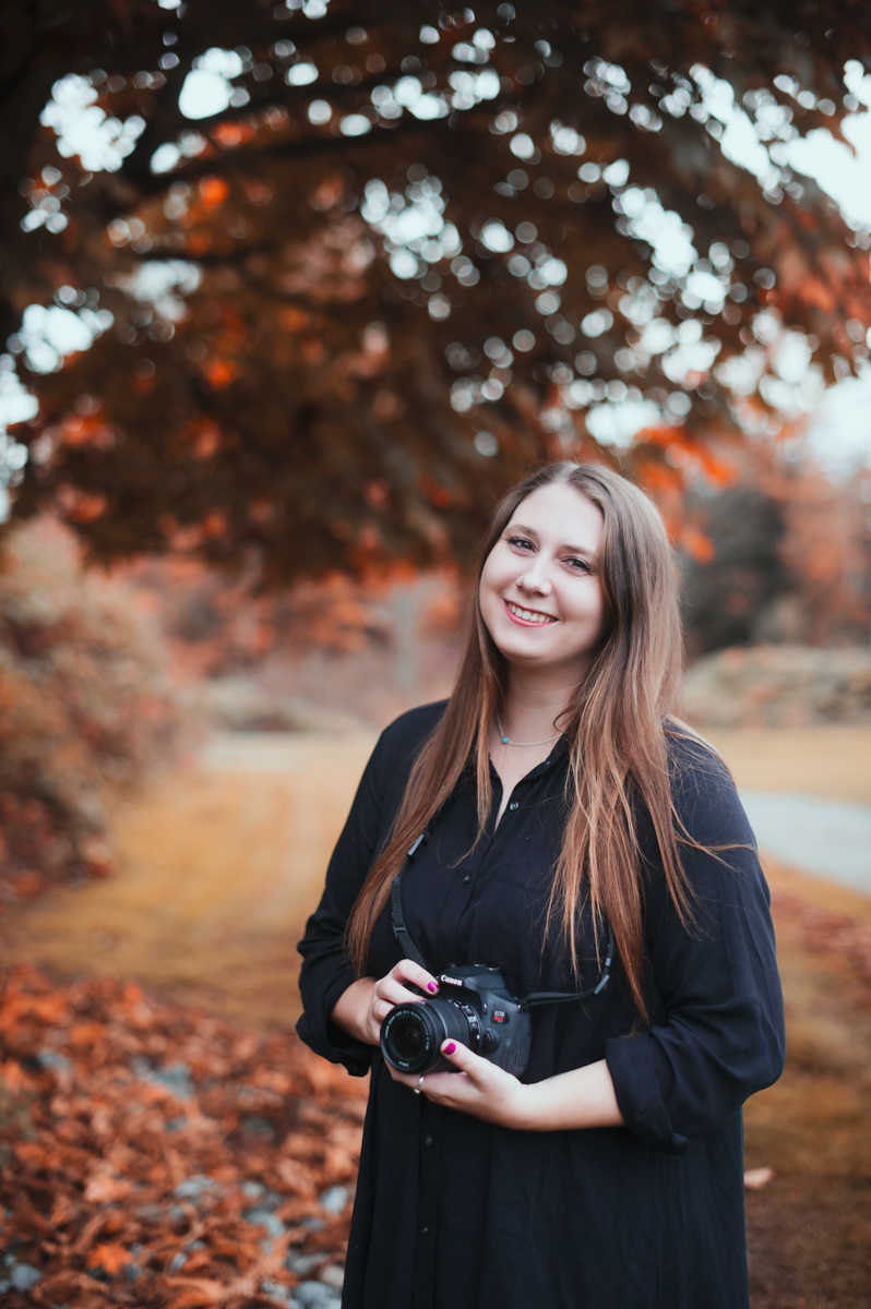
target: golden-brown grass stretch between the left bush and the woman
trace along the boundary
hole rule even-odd
[[[245,737],[115,819],[118,874],[4,920],[7,962],[118,977],[236,1022],[299,1016],[300,939],[372,737]]]

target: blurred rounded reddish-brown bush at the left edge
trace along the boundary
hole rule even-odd
[[[0,897],[105,876],[107,804],[178,741],[166,660],[123,589],[41,522],[0,560]]]

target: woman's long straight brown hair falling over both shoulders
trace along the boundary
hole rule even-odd
[[[642,885],[634,797],[650,812],[672,899],[692,919],[678,844],[689,839],[672,804],[667,734],[675,730],[681,673],[677,569],[655,505],[626,478],[599,463],[551,463],[510,491],[485,535],[483,564],[517,507],[540,487],[574,487],[602,513],[597,567],[605,601],[604,635],[559,725],[571,749],[567,817],[554,870],[547,928],[558,920],[576,969],[580,910],[606,920],[633,1000],[642,1016]],[[360,890],[347,928],[358,975],[365,971],[375,919],[405,851],[423,831],[460,775],[473,766],[479,836],[490,812],[490,730],[504,711],[507,664],[475,602],[456,687],[444,716],[411,768],[386,846]],[[680,834],[680,835],[678,835]]]

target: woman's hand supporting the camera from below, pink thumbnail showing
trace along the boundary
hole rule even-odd
[[[517,1081],[510,1072],[489,1059],[475,1055],[458,1041],[445,1041],[441,1054],[458,1072],[428,1072],[420,1083],[420,1094],[435,1105],[457,1109],[499,1127],[528,1127],[534,1086]],[[388,1064],[394,1081],[417,1088],[419,1076],[398,1072]]]

